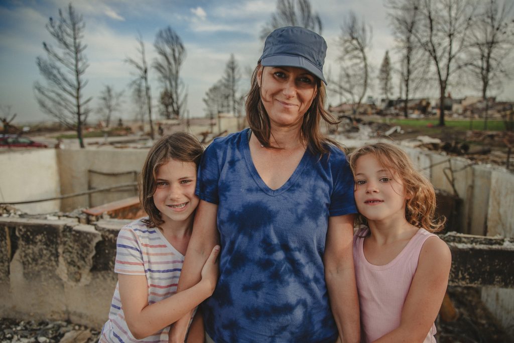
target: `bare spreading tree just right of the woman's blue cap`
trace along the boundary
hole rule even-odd
[[[350,11],[341,27],[338,39],[340,73],[338,80],[330,80],[331,91],[351,99],[354,114],[358,111],[369,86],[372,28]]]

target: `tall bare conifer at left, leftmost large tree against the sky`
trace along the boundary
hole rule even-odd
[[[87,45],[82,43],[85,23],[82,15],[68,5],[68,11],[59,9],[59,19],[52,17],[46,29],[57,42],[57,50],[43,42],[47,59],[36,58],[40,74],[46,85],[34,83],[36,100],[42,111],[57,118],[70,129],[76,129],[80,147],[84,148],[82,128],[91,109],[87,106],[91,97],[83,100],[87,84],[84,74],[89,66],[85,56]]]

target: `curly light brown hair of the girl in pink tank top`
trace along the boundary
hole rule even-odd
[[[382,167],[400,177],[409,197],[406,199],[405,205],[407,221],[411,225],[430,232],[442,230],[446,218],[434,218],[436,207],[434,187],[425,176],[414,169],[409,156],[400,148],[389,143],[366,144],[348,155],[348,162],[354,174],[357,159],[368,154],[373,154]],[[359,226],[367,224],[367,221],[362,214],[359,214],[355,218],[355,224]]]

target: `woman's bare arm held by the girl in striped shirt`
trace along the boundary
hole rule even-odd
[[[189,240],[186,258],[178,280],[177,292],[183,293],[200,279],[200,270],[209,256],[209,251],[219,242],[216,227],[218,206],[200,200],[196,208],[193,233]],[[170,342],[183,343],[186,338],[191,311],[177,320],[170,330]]]

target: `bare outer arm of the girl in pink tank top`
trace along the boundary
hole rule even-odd
[[[425,340],[443,302],[450,267],[451,254],[446,243],[435,237],[427,239],[403,304],[400,326],[375,343]]]

